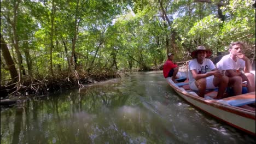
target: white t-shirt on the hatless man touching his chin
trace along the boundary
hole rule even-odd
[[[245,61],[243,59],[237,59],[235,62],[230,55],[225,55],[220,59],[220,61],[216,64],[217,68],[219,70],[229,70],[229,69],[235,69],[238,70],[240,68],[245,68]]]

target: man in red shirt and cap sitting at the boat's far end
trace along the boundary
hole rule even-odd
[[[164,64],[164,68],[163,68],[163,73],[164,73],[164,77],[172,77],[172,81],[177,83],[177,81],[175,79],[178,79],[178,77],[176,77],[178,71],[179,71],[179,67],[176,63],[173,63],[173,53],[168,53],[167,55],[167,61]]]

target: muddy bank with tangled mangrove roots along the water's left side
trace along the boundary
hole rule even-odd
[[[35,79],[30,76],[22,81],[1,86],[1,107],[14,106],[19,102],[44,95],[67,91],[72,88],[82,88],[91,83],[106,81],[109,79],[129,76],[126,73],[101,73],[101,74],[71,74],[56,75]]]

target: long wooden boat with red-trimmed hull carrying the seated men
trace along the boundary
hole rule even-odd
[[[178,73],[181,75],[181,72]],[[255,92],[216,100],[211,97],[217,95],[217,91],[208,91],[205,98],[201,98],[188,88],[186,82],[174,83],[171,77],[167,77],[167,82],[188,103],[235,128],[255,135],[255,110],[242,108],[247,104],[255,105]]]

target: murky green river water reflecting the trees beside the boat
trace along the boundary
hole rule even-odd
[[[1,111],[1,143],[255,143],[195,109],[162,71],[133,74]]]

